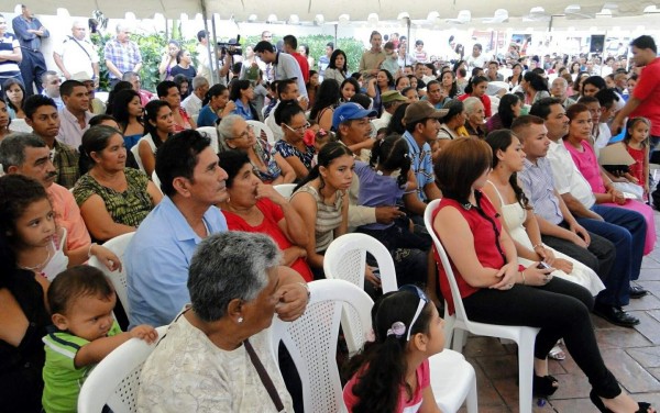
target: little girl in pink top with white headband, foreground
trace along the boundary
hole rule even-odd
[[[351,360],[343,390],[349,412],[440,412],[428,360],[444,345],[436,305],[419,288],[403,286],[376,301],[372,325],[375,342]]]

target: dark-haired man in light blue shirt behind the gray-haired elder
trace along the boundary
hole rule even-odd
[[[144,219],[124,255],[131,325],[169,324],[190,302],[188,267],[197,245],[227,231],[224,215],[215,206],[229,198],[227,172],[209,145],[198,132],[186,131],[158,148],[156,175],[165,198]]]

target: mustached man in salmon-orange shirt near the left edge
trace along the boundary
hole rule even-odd
[[[31,98],[36,97],[38,96]],[[0,164],[7,174],[20,174],[36,179],[46,189],[57,225],[66,228],[66,255],[69,257],[69,265],[82,264],[91,255],[96,255],[98,258],[106,257],[112,260],[114,264],[105,259],[105,264],[114,269],[119,265],[119,258],[107,248],[91,243],[74,196],[68,189],[55,183],[57,170],[51,159],[52,150],[33,133],[13,133],[0,144]]]

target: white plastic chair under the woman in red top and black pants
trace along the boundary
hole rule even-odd
[[[534,346],[535,339],[539,332],[539,328],[527,327],[527,326],[515,326],[515,325],[497,325],[486,324],[470,321],[465,314],[465,308],[463,306],[463,299],[459,291],[459,286],[454,278],[453,270],[451,268],[447,253],[440,239],[436,235],[433,230],[433,212],[438,209],[440,200],[431,201],[424,213],[424,222],[426,227],[433,238],[433,245],[440,261],[447,274],[449,286],[451,288],[451,297],[453,299],[455,312],[449,316],[446,311],[444,315],[444,339],[446,346],[450,346],[453,337],[453,349],[462,351],[463,347],[463,332],[470,332],[475,335],[483,335],[488,337],[502,337],[508,338],[518,345],[518,380],[519,380],[519,400],[520,400],[520,412],[531,413],[531,380],[534,375]],[[446,309],[448,308],[446,303]],[[455,333],[454,333],[455,331]]]

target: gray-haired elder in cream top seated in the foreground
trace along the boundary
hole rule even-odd
[[[140,412],[293,412],[268,353],[267,328],[293,293],[282,287],[299,279],[279,261],[263,234],[224,232],[199,244],[188,277],[191,304],[144,364]]]

